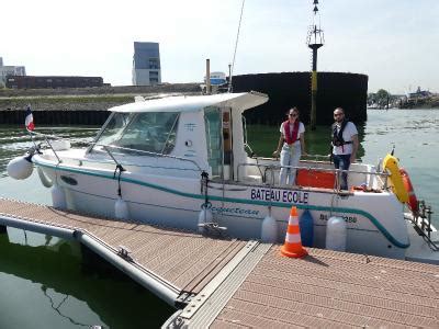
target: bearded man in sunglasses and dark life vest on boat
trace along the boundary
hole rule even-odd
[[[336,169],[348,170],[356,160],[358,150],[358,131],[353,123],[345,118],[341,107],[334,110],[333,160]],[[348,173],[341,173],[340,190],[348,190]]]

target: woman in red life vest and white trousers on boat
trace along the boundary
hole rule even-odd
[[[279,183],[295,184],[295,168],[297,167],[301,156],[306,156],[305,152],[305,126],[299,121],[297,107],[291,109],[288,113],[288,120],[281,124],[278,148],[273,151],[273,157],[281,155],[281,171],[279,174]],[[281,150],[282,148],[282,150]]]

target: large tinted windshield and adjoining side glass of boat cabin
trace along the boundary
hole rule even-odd
[[[176,146],[179,112],[114,113],[99,135],[101,145],[169,155]],[[132,150],[117,149],[126,154]],[[142,154],[147,155],[147,154]]]

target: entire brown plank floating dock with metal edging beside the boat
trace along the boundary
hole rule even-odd
[[[280,246],[4,198],[0,225],[86,243],[176,306],[164,327],[439,328],[439,266],[432,264],[314,248],[303,260],[290,259]]]

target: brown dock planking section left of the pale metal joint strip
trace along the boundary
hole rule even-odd
[[[207,283],[206,277],[215,276],[224,265],[224,260],[233,258],[246,243],[4,198],[0,198],[0,214],[80,230],[114,251],[117,251],[119,246],[124,246],[137,265],[190,294],[200,291]]]

